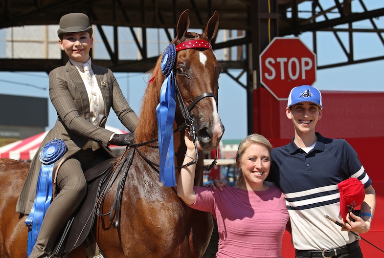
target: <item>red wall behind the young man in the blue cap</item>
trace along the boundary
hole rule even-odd
[[[322,91],[323,113],[316,131],[327,138],[343,138],[357,151],[376,191],[372,228],[361,237],[384,250],[384,92]],[[285,115],[287,101],[276,100],[265,88],[254,90],[255,131],[271,140],[273,147],[285,145],[294,136],[292,121]],[[257,118],[259,117],[259,118]],[[360,241],[365,258],[384,253]],[[294,258],[291,236],[283,238],[283,257]]]

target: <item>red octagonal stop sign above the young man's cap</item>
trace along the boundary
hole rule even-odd
[[[278,100],[316,82],[316,55],[299,38],[274,38],[260,54],[260,81]]]

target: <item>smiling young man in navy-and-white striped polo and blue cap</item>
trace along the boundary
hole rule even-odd
[[[366,233],[371,228],[375,190],[356,151],[345,140],[324,138],[315,131],[322,108],[321,93],[315,87],[291,90],[285,111],[294,124],[294,138],[290,144],[272,149],[266,181],[278,185],[285,194],[296,258],[362,258],[358,237],[352,231]],[[358,178],[364,185],[362,218],[352,213],[341,218],[338,184],[348,178]],[[217,180],[210,184],[219,190],[224,185]]]

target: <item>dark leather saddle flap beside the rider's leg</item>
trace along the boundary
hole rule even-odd
[[[69,219],[56,245],[54,251],[56,255],[68,253],[86,241],[96,217],[98,197],[105,188],[104,179],[110,175],[113,161],[114,158],[107,159],[84,172],[87,180],[87,195]]]

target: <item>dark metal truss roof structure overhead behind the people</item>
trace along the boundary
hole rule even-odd
[[[253,129],[252,112],[254,88],[261,87],[258,76],[258,56],[276,36],[299,36],[312,33],[312,49],[317,54],[318,35],[331,32],[345,59],[332,64],[317,65],[317,69],[331,68],[348,64],[358,64],[382,60],[377,55],[357,59],[354,55],[355,33],[375,34],[384,47],[382,33],[375,18],[384,16],[384,2],[377,0],[0,0],[0,29],[23,25],[57,24],[59,18],[69,12],[86,13],[91,23],[97,27],[108,51],[108,60],[93,59],[95,63],[111,68],[114,72],[145,72],[151,69],[156,57],[148,56],[147,28],[164,29],[169,41],[169,29],[176,27],[179,15],[189,9],[191,26],[205,27],[214,11],[220,16],[219,29],[238,31],[238,37],[213,43],[214,49],[229,49],[237,55],[230,55],[222,68],[233,80],[243,86],[248,93],[248,132]],[[373,4],[373,8],[370,7]],[[369,21],[370,26],[358,28],[356,22]],[[103,26],[113,27],[109,38]],[[118,27],[131,31],[136,49],[141,58],[136,60],[119,59]],[[137,35],[136,29],[141,28]],[[172,31],[172,30],[171,30]],[[343,41],[340,33],[347,33]],[[345,38],[345,37],[344,37]],[[112,44],[111,44],[112,42]],[[378,51],[379,53],[379,51]],[[233,57],[236,56],[236,57]],[[319,55],[317,54],[319,58]],[[346,61],[345,61],[346,60]],[[0,59],[0,71],[46,71],[63,65],[67,56],[61,59]],[[240,69],[233,73],[232,69]],[[234,75],[236,74],[236,75]],[[240,78],[247,74],[247,83]]]

